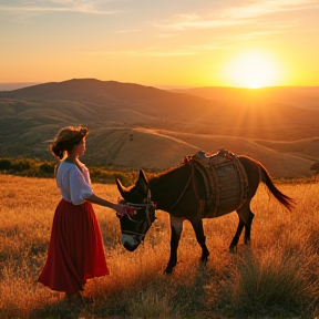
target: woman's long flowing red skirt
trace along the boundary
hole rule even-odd
[[[83,290],[88,279],[109,275],[100,225],[92,204],[59,203],[39,282],[56,291]]]

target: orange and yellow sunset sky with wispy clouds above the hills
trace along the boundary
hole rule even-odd
[[[0,0],[0,83],[319,85],[318,0]]]

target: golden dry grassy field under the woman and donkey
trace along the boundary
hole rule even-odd
[[[0,318],[171,319],[315,318],[319,316],[319,185],[300,181],[278,187],[297,202],[289,213],[264,186],[253,200],[251,246],[228,246],[235,213],[204,220],[209,260],[185,222],[178,264],[163,275],[169,255],[168,215],[158,210],[145,241],[134,253],[121,246],[115,213],[94,206],[111,275],[92,279],[84,295],[95,303],[70,308],[64,295],[37,282],[45,260],[60,199],[53,179],[0,175]],[[115,185],[93,184],[97,195],[117,200]]]

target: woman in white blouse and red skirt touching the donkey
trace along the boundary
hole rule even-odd
[[[68,300],[89,302],[80,291],[88,279],[109,275],[101,229],[91,203],[110,207],[119,215],[132,207],[114,204],[96,196],[90,174],[79,157],[85,152],[86,127],[64,127],[49,150],[60,161],[55,171],[61,191],[52,225],[45,265],[39,281],[56,291],[64,291]]]

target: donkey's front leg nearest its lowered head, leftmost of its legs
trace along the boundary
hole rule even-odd
[[[165,274],[172,274],[173,268],[177,264],[177,248],[183,230],[184,218],[178,218],[169,215],[171,217],[171,256],[165,269]]]

